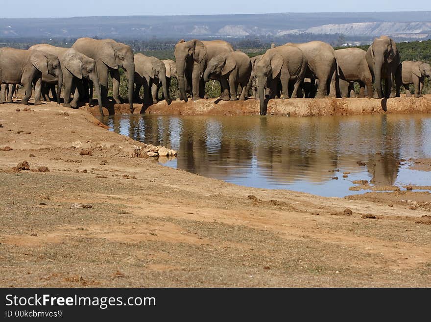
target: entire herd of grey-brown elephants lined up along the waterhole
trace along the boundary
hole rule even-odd
[[[359,97],[392,98],[400,96],[404,86],[414,84],[414,97],[422,96],[425,77],[431,77],[428,63],[403,61],[395,42],[382,36],[374,39],[367,51],[359,48],[334,50],[321,41],[271,46],[263,55],[248,55],[226,41],[180,40],[175,45],[175,62],[159,60],[111,39],[79,38],[72,48],[38,44],[28,50],[0,48],[0,104],[12,101],[16,85],[25,90],[22,103],[28,104],[34,85],[35,105],[42,99],[60,103],[64,88],[64,106],[76,107],[79,100],[92,102],[96,90],[100,113],[108,102],[108,76],[112,78],[112,98],[121,103],[120,72],[128,80],[128,102],[144,104],[162,99],[170,104],[169,86],[178,79],[179,98],[188,101],[206,98],[205,82],[220,82],[220,98],[244,100],[250,90],[260,100],[260,114],[266,113],[268,99],[350,97],[354,82],[360,86]],[[384,88],[382,88],[382,81]],[[374,87],[373,87],[374,83]],[[393,84],[396,84],[395,89]],[[9,86],[7,85],[9,84]],[[55,90],[57,85],[57,91]],[[239,91],[240,88],[240,92]],[[72,100],[71,100],[72,94]]]

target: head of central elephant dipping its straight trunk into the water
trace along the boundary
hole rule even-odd
[[[264,115],[265,84],[268,80],[277,77],[283,67],[283,57],[277,53],[265,54],[255,65],[258,81],[258,96],[260,101],[260,114]]]

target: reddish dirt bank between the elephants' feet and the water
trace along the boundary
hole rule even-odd
[[[134,113],[161,115],[258,115],[259,101],[223,101],[220,99],[166,101],[143,106],[134,104]],[[97,108],[83,107],[94,115],[99,115]],[[115,104],[105,113],[129,113],[128,104]],[[394,99],[270,99],[267,106],[268,115],[282,116],[319,116],[319,115],[357,115],[382,113],[428,113],[431,112],[431,95],[423,98]]]

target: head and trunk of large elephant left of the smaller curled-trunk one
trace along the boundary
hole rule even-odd
[[[181,39],[175,45],[175,61],[177,65],[178,85],[182,98],[187,102],[186,85],[184,82],[184,70],[188,58],[192,58],[193,63],[202,64],[207,55],[205,45],[197,39],[184,41]]]

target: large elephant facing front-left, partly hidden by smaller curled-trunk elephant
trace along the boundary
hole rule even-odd
[[[207,63],[216,55],[234,51],[232,46],[223,40],[200,41],[197,39],[184,41],[181,39],[175,45],[175,61],[177,65],[178,85],[181,99],[187,102],[186,81],[192,82],[192,99],[197,100],[205,96],[205,82],[202,74]],[[218,80],[218,79],[217,79]],[[221,86],[222,94],[225,88]]]

